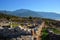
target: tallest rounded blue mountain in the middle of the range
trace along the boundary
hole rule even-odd
[[[16,10],[16,11],[13,11],[13,13],[16,16],[22,16],[22,17],[28,17],[28,16],[39,17],[40,16],[37,12],[27,10],[27,9]]]

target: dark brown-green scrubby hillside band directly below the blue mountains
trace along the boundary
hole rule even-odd
[[[9,14],[6,14],[6,13],[0,13],[0,19],[2,18],[6,18],[7,20],[12,20],[12,21],[20,21],[20,22],[26,22],[26,21],[29,21],[29,17],[19,17],[19,16],[14,16],[14,15],[9,15]],[[60,21],[57,21],[57,20],[52,20],[52,19],[47,19],[47,18],[41,18],[41,17],[31,17],[32,20],[44,20],[46,22],[47,25],[54,25],[54,26],[58,26],[60,27]],[[31,20],[31,21],[32,21]]]

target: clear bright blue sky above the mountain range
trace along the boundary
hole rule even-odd
[[[17,9],[60,13],[60,0],[0,0],[0,10]]]

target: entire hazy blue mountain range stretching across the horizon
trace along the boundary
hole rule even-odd
[[[60,19],[60,14],[54,13],[54,12],[36,12],[28,9],[19,9],[15,11],[0,11],[2,13],[15,15],[15,16],[21,16],[21,17],[42,17],[42,18],[49,18],[49,19]]]

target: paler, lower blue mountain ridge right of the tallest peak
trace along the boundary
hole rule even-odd
[[[39,15],[41,15],[43,18],[49,18],[49,19],[60,19],[60,14],[53,13],[53,12],[39,12]]]

